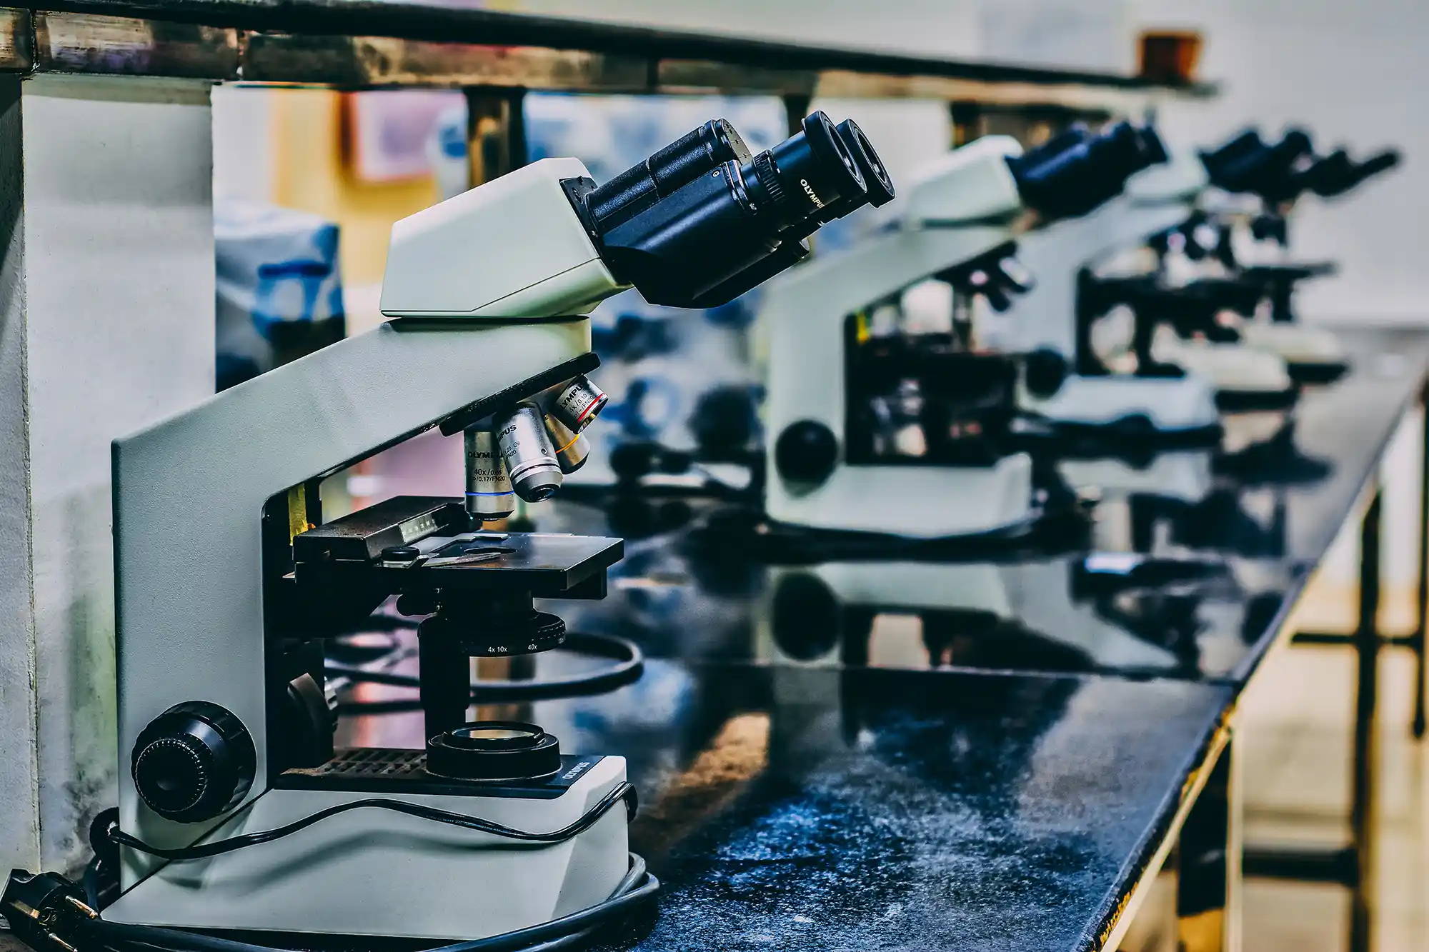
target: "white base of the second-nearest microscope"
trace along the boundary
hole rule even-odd
[[[816,489],[769,483],[769,517],[790,526],[916,539],[979,536],[1030,523],[1032,457],[992,466],[840,465]]]

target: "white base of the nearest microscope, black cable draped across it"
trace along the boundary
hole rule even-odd
[[[270,789],[206,839],[292,823],[349,800],[400,799],[546,832],[579,819],[624,780],[623,758],[566,758],[534,788],[443,785],[459,792]],[[554,796],[552,796],[554,793]],[[354,809],[267,843],[170,862],[104,911],[116,922],[239,932],[456,941],[510,932],[593,906],[629,865],[626,808],[554,845],[383,809]]]

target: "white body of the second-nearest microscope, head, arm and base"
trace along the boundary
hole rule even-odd
[[[765,409],[772,519],[817,529],[919,537],[995,532],[1032,515],[1032,460],[993,466],[850,465],[845,333],[850,314],[945,269],[1010,242],[1025,212],[1007,159],[1022,147],[987,136],[939,159],[909,192],[896,227],[845,253],[817,257],[765,289]],[[792,426],[832,437],[822,480],[780,472]],[[786,443],[787,446],[787,443]]]

